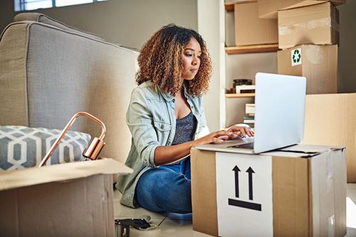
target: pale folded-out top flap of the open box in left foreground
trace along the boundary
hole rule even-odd
[[[0,172],[0,191],[21,186],[45,184],[90,177],[95,174],[130,174],[132,169],[114,159],[98,159],[90,162],[71,162],[46,167],[32,167]]]

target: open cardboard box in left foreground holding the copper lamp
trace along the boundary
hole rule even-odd
[[[114,236],[113,159],[0,172],[1,236]]]

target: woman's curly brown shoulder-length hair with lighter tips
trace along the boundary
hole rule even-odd
[[[184,46],[195,38],[201,48],[200,66],[193,80],[185,80],[189,95],[201,95],[208,91],[211,75],[211,59],[205,41],[197,31],[169,24],[159,29],[144,44],[138,56],[139,70],[136,74],[138,85],[152,81],[164,93],[176,95],[181,90],[182,53]]]

